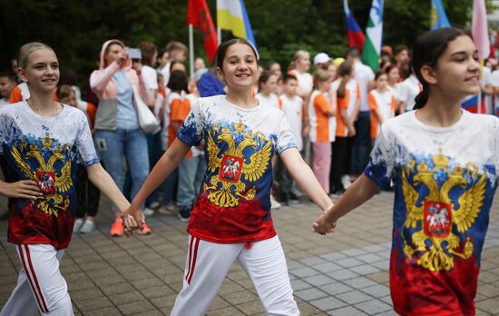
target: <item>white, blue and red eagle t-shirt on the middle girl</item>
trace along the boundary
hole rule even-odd
[[[258,242],[276,235],[270,215],[274,154],[297,144],[285,114],[272,106],[242,108],[225,95],[201,98],[177,137],[205,141],[208,169],[187,231],[209,242]]]

